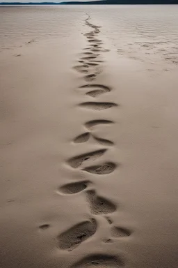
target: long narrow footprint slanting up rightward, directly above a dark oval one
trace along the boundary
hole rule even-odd
[[[70,158],[68,163],[72,168],[79,168],[79,166],[83,163],[83,161],[95,160],[101,157],[106,151],[107,149],[100,149],[97,151],[91,151],[90,153],[87,154],[81,154],[80,156],[74,156]]]

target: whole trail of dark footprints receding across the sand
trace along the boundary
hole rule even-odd
[[[88,82],[87,84],[83,84],[79,89],[84,91],[86,96],[91,98],[99,98],[102,94],[106,94],[110,92],[112,89],[104,84],[92,83],[93,80],[96,79],[100,64],[102,64],[101,53],[108,52],[108,50],[102,47],[102,40],[98,39],[99,35],[99,27],[91,24],[89,22],[90,16],[86,19],[86,25],[93,29],[93,31],[85,34],[88,39],[88,47],[84,48],[83,56],[79,59],[79,65],[74,66],[74,70],[79,73],[84,74],[84,80]],[[86,101],[79,104],[79,107],[86,108],[88,110],[105,110],[109,108],[118,107],[117,103],[112,102],[100,102],[100,101]],[[97,149],[94,151],[89,151],[86,154],[80,154],[78,156],[74,156],[67,160],[68,165],[71,168],[79,168],[83,170],[83,172],[88,172],[90,174],[98,175],[99,177],[104,176],[106,174],[111,174],[115,171],[118,164],[113,162],[102,162],[100,158],[106,151],[114,145],[111,140],[106,140],[103,137],[97,137],[92,133],[92,130],[99,125],[110,126],[114,124],[114,121],[107,119],[95,119],[91,121],[87,121],[84,124],[86,128],[86,132],[79,134],[74,137],[73,142],[75,144],[81,144],[83,142],[88,142],[89,139],[97,142],[97,144],[101,144],[102,149]],[[94,161],[98,161],[97,164],[91,165],[90,163]],[[78,223],[72,228],[65,230],[57,237],[58,248],[64,251],[73,251],[76,247],[78,247],[83,241],[86,241],[90,237],[92,237],[95,232],[97,232],[97,221],[95,219],[95,215],[102,215],[106,218],[106,221],[109,225],[111,225],[111,237],[115,239],[120,237],[129,237],[131,235],[131,231],[123,226],[115,226],[110,216],[117,210],[117,205],[111,202],[110,200],[97,195],[97,191],[93,188],[92,182],[88,180],[83,181],[74,181],[69,184],[65,184],[58,188],[58,193],[62,195],[74,195],[83,192],[86,196],[86,202],[88,202],[88,206],[90,208],[91,216],[87,221],[83,221]],[[49,227],[49,226],[48,226]],[[46,229],[47,226],[41,226],[42,230]],[[112,239],[103,239],[104,243],[112,243]],[[124,265],[124,260],[116,255],[107,255],[107,254],[93,254],[88,255],[79,262],[76,262],[72,265],[72,268],[78,267],[102,267],[102,268],[114,268],[118,266]]]

